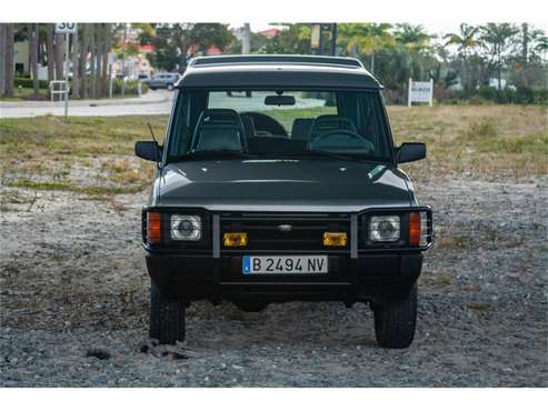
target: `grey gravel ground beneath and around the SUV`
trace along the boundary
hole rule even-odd
[[[1,387],[547,387],[547,183],[417,181],[437,242],[417,335],[376,347],[363,304],[200,302],[187,342],[146,339],[146,193],[0,187]]]

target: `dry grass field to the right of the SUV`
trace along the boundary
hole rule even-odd
[[[388,111],[398,143],[427,143],[427,160],[403,167],[411,174],[519,178],[548,171],[546,108],[390,107]]]

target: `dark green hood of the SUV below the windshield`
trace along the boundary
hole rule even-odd
[[[337,160],[215,160],[171,163],[158,206],[225,211],[360,211],[408,207],[407,177],[379,163]]]

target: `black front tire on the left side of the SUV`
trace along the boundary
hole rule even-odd
[[[160,344],[185,341],[185,304],[163,298],[155,284],[150,285],[150,338]]]

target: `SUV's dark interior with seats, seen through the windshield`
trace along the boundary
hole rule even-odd
[[[367,97],[366,100],[358,93],[339,93],[337,107],[332,108],[335,113],[291,118],[287,114],[302,111],[280,106],[286,102],[295,104],[296,99],[288,94],[281,96],[282,92],[277,93],[263,100],[261,98],[263,107],[259,108],[263,111],[208,107],[207,96],[197,99],[193,113],[198,120],[193,127],[189,124],[186,138],[189,142],[178,151],[239,151],[257,154],[327,151],[378,156],[386,149],[386,130],[379,118],[382,113],[373,98]],[[230,99],[238,101],[237,98],[226,97],[222,103],[229,106]],[[269,106],[278,107],[272,109]],[[286,119],[286,124],[289,121],[291,124],[289,130],[276,119],[276,111],[272,111],[282,109],[286,109],[286,118],[289,119]]]

